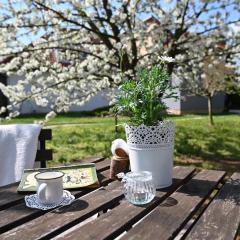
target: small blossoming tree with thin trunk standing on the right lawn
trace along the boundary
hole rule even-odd
[[[217,47],[219,48],[219,47]],[[204,51],[204,49],[203,49]],[[222,49],[218,49],[222,51]],[[186,67],[191,67],[191,71],[187,74],[182,72],[182,88],[187,94],[206,97],[208,100],[208,115],[210,125],[214,125],[213,121],[213,97],[220,92],[230,93],[233,87],[238,89],[240,85],[237,78],[236,69],[233,64],[227,62],[225,58],[218,55],[207,55],[204,62],[188,63]],[[231,86],[231,89],[229,89]]]

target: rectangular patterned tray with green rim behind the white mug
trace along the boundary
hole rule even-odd
[[[37,190],[37,181],[34,176],[40,172],[53,170],[64,173],[64,189],[95,188],[99,186],[95,164],[90,163],[64,167],[25,169],[17,191],[35,192]]]

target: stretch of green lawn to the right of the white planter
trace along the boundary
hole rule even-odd
[[[239,171],[240,116],[216,116],[214,120],[214,127],[208,125],[207,117],[175,120],[176,162],[199,168]]]

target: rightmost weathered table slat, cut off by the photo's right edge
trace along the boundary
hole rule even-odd
[[[240,224],[240,173],[234,173],[188,234],[188,240],[232,240]]]

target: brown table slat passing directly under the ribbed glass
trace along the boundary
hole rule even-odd
[[[176,167],[173,170],[173,185],[166,191],[157,191],[154,200],[145,206],[135,206],[127,201],[121,202],[119,206],[100,216],[95,221],[89,222],[83,227],[75,228],[68,234],[62,234],[58,239],[114,239],[119,234],[129,229],[129,226],[136,223],[141,217],[150,212],[168,195],[183,184],[194,172],[194,168]],[[93,230],[94,229],[94,230]]]

